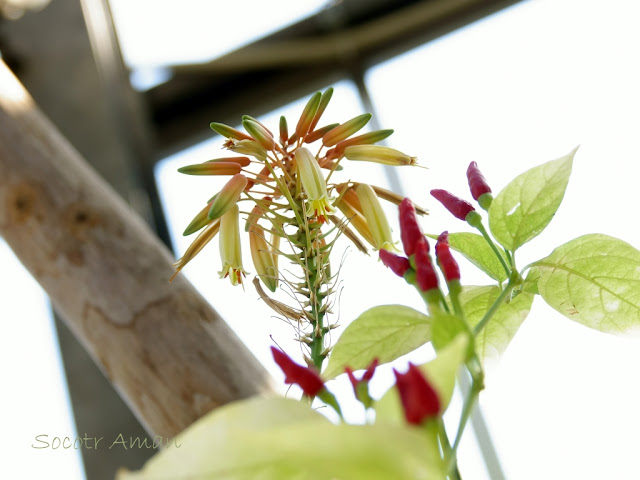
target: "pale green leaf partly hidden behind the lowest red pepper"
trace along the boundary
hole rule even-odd
[[[438,392],[443,412],[451,402],[456,375],[465,362],[468,346],[469,338],[466,335],[458,335],[438,352],[436,358],[419,367]],[[405,423],[402,405],[395,387],[389,389],[376,404],[376,422]]]

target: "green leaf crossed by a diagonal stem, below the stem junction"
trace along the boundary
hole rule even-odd
[[[500,288],[496,286],[463,287],[460,303],[472,328],[484,317],[500,292]],[[481,359],[498,356],[507,348],[527,318],[532,303],[533,295],[522,291],[498,308],[489,323],[476,336],[476,352]]]

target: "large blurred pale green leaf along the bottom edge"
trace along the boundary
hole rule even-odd
[[[254,398],[198,420],[118,480],[444,480],[432,435],[401,425],[334,425],[308,405]]]

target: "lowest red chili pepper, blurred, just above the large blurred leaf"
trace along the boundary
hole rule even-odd
[[[394,368],[396,387],[400,393],[400,401],[404,416],[411,425],[421,425],[425,420],[436,417],[440,413],[438,393],[431,386],[418,367],[409,363],[406,373],[398,373]]]

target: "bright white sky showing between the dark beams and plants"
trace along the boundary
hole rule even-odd
[[[121,8],[118,3],[123,2],[113,0],[113,3],[118,13]],[[127,3],[147,5],[142,1]],[[261,3],[252,2],[251,7]],[[275,8],[271,2],[269,5]],[[172,13],[178,16],[181,11]],[[640,147],[636,141],[640,131],[640,67],[634,61],[639,56],[640,45],[638,13],[636,3],[626,0],[611,0],[606,5],[580,0],[531,0],[382,64],[369,73],[367,85],[378,120],[384,128],[396,130],[389,145],[418,156],[419,161],[429,167],[429,170],[412,170],[402,176],[405,193],[431,209],[431,216],[424,222],[426,230],[454,231],[464,227],[432,202],[428,191],[446,188],[466,194],[464,172],[470,161],[478,162],[497,192],[515,175],[581,145],[563,205],[547,231],[522,249],[519,264],[541,258],[554,246],[591,232],[608,233],[640,247],[640,234],[634,221],[637,179],[640,178]],[[191,22],[208,24],[203,17],[214,22],[222,15],[189,17],[186,32],[178,32],[173,23],[171,29],[160,31],[171,31],[174,41],[175,37],[186,41],[192,34],[189,31],[196,30]],[[226,38],[228,34],[220,29],[240,17],[242,22],[249,21],[245,16],[227,15],[225,21],[216,23],[210,30],[216,31],[216,38]],[[163,35],[154,36],[145,30],[153,30],[159,24],[161,21],[155,18],[137,22],[136,30],[131,30],[135,35],[130,37],[122,27],[124,46],[137,39],[140,44],[147,42],[147,49],[152,46],[152,52],[162,51],[157,42]],[[232,25],[236,30],[241,29],[235,23]],[[242,23],[242,29],[245,26]],[[158,59],[151,56],[153,54],[146,60],[140,59],[135,57],[139,53],[127,53],[128,48],[125,53],[132,64],[171,61]],[[142,46],[130,48],[131,52],[143,51]],[[138,48],[140,50],[136,50]],[[203,60],[207,55],[218,54],[197,51],[193,45],[185,49],[192,56],[183,56],[181,61]],[[333,98],[326,113],[327,122],[333,118],[345,120],[362,110],[347,82],[337,86]],[[284,109],[293,112],[288,114],[290,123],[295,124],[303,104],[301,100]],[[281,113],[274,112],[263,120],[275,128]],[[211,120],[215,120],[215,112]],[[177,235],[220,185],[210,179],[180,175],[176,169],[223,156],[224,152],[214,140],[185,155],[167,159],[157,171],[169,223]],[[372,183],[385,183],[378,167],[359,166],[353,178],[362,179],[363,175]],[[177,245],[183,252],[188,241],[180,237]],[[251,270],[246,247],[244,255],[246,267]],[[287,351],[295,352],[297,347],[291,341],[290,327],[269,318],[269,311],[250,285],[243,293],[240,288],[231,288],[218,280],[219,269],[214,241],[185,273],[230,321],[255,355],[277,374],[268,354],[269,336],[273,335]],[[400,279],[391,277],[380,264],[353,249],[346,258],[342,278],[344,290],[339,311],[343,324],[374,304],[402,303],[421,308],[419,299],[404,288]],[[472,267],[463,269],[463,279],[474,284],[488,283],[488,279],[475,273]],[[12,288],[15,289],[15,285]],[[20,291],[26,292],[28,288],[25,285]],[[19,313],[10,310],[9,317],[38,316],[35,312],[25,313],[24,305],[20,307]],[[25,345],[32,341],[27,338],[10,343]],[[3,354],[9,355],[7,358],[16,355]],[[55,357],[47,356],[46,352],[44,355],[31,357],[34,364],[53,363]],[[424,361],[428,355],[428,351],[422,351],[412,358]],[[536,301],[531,316],[500,363],[490,369],[488,388],[482,397],[507,477],[518,480],[637,478],[640,471],[638,365],[639,339],[591,331],[555,313],[542,301]],[[25,364],[25,372],[28,368],[32,367]],[[45,376],[41,368],[37,372],[33,378]],[[60,380],[61,376],[55,373],[47,378]],[[389,382],[390,377],[382,375],[376,388],[382,389]],[[347,391],[344,382],[336,388]],[[63,406],[60,386],[54,383],[43,391],[49,392],[49,405],[60,405],[58,411],[63,414],[56,414],[59,418],[68,415],[64,413],[68,410]],[[37,412],[41,419],[36,423],[38,428],[49,428],[47,419],[54,415],[43,410],[44,404],[40,402],[24,414],[33,417],[33,412]],[[26,432],[29,438],[36,434],[24,425],[21,420],[16,433],[8,437],[24,436],[25,430],[29,430]],[[67,427],[57,428],[65,431]],[[53,426],[51,429],[55,430]],[[476,455],[470,440],[467,438],[466,450],[462,453],[463,475],[466,471],[465,478],[484,478],[475,470]],[[27,464],[28,459],[37,458],[41,462],[44,458],[36,456],[40,452],[22,446],[14,446],[9,451],[24,452],[21,465]],[[65,478],[79,477],[69,474]]]

